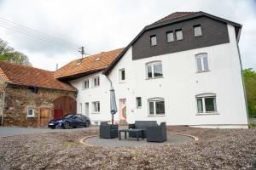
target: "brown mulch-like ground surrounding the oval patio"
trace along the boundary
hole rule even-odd
[[[0,138],[0,169],[256,169],[256,128],[168,127],[168,132],[199,141],[109,149],[79,144],[98,130],[10,136]]]

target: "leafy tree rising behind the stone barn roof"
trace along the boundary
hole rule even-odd
[[[18,65],[32,65],[25,54],[15,51],[2,39],[0,39],[0,60]]]

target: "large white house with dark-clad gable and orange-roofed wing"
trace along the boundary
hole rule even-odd
[[[146,26],[126,48],[76,59],[55,72],[79,90],[92,123],[156,120],[167,125],[247,127],[238,42],[241,25],[178,12]]]

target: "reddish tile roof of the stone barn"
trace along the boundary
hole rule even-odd
[[[0,77],[4,82],[13,84],[76,91],[71,85],[55,79],[53,71],[15,65],[5,61],[0,61]]]

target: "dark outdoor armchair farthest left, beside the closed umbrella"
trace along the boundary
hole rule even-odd
[[[100,138],[114,139],[119,137],[119,126],[111,125],[108,122],[101,122],[100,125]]]

